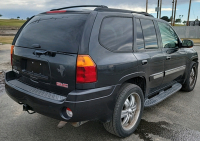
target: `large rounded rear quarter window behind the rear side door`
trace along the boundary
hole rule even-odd
[[[99,41],[110,51],[132,52],[132,18],[105,18],[101,25]]]

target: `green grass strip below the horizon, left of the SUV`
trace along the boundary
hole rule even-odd
[[[26,20],[17,20],[17,19],[0,19],[0,27],[21,27]]]

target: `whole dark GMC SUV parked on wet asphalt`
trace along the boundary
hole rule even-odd
[[[96,8],[71,9],[77,7]],[[198,55],[192,46],[148,13],[98,5],[53,9],[33,16],[15,36],[6,92],[29,113],[100,120],[126,137],[144,107],[194,89]]]

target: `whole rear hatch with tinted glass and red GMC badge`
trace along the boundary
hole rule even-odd
[[[13,71],[18,80],[45,91],[67,95],[76,85],[76,59],[88,14],[41,14],[32,18],[16,40]]]

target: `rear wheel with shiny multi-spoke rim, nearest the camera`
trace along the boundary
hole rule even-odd
[[[104,123],[104,128],[119,137],[130,136],[140,123],[143,109],[144,96],[141,88],[127,83],[120,89],[112,119]]]

